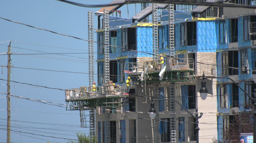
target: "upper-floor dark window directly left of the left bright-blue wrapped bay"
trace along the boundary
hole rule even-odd
[[[125,49],[137,50],[136,28],[124,28],[122,31],[122,47]],[[122,49],[122,51],[125,51]]]

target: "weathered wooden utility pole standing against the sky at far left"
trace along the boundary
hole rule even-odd
[[[11,42],[8,46],[8,75],[7,75],[7,143],[11,142],[11,101],[10,101],[10,75],[11,75]]]

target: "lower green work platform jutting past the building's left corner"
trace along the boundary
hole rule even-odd
[[[112,82],[112,81],[111,81]],[[80,87],[65,90],[66,110],[89,110],[96,107],[121,107],[121,98],[129,97],[126,86],[101,86],[92,91],[91,87]],[[107,93],[107,94],[105,94]]]

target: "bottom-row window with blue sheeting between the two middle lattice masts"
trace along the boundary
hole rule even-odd
[[[170,142],[170,118],[163,118],[161,119],[161,126],[162,126],[162,135],[161,135],[161,142]],[[166,131],[167,126],[167,131]]]

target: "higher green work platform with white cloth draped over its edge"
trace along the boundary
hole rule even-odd
[[[189,61],[184,62],[180,59],[179,62],[179,60],[168,58],[164,64],[159,64],[160,62],[156,61],[126,62],[125,72],[128,73],[129,76],[138,76],[138,79],[140,79],[138,81],[139,84],[142,80],[146,80],[147,82],[190,81],[194,79],[195,66],[193,59],[187,60]]]

